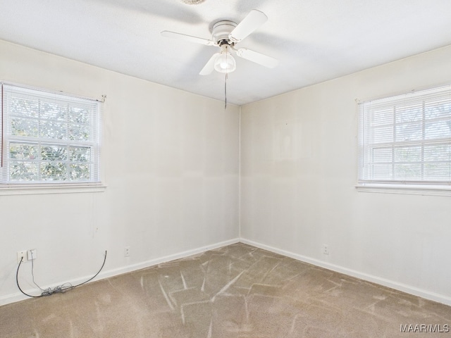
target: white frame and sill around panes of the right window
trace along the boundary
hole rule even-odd
[[[399,177],[397,179],[386,179],[382,180],[380,178],[374,178],[369,175],[368,170],[369,169],[369,156],[371,157],[370,151],[372,149],[376,149],[378,146],[377,143],[373,140],[369,141],[369,132],[373,132],[376,130],[376,127],[374,125],[369,127],[367,123],[369,123],[369,117],[366,114],[371,115],[370,109],[367,109],[368,106],[371,106],[371,104],[374,104],[378,107],[389,107],[390,105],[393,106],[393,123],[391,123],[391,127],[393,127],[393,141],[387,142],[388,148],[390,146],[392,149],[400,149],[402,147],[408,148],[409,146],[412,147],[421,147],[421,161],[415,162],[415,164],[418,164],[421,166],[421,170],[423,170],[424,166],[427,165],[428,161],[425,160],[424,157],[424,148],[430,144],[444,144],[446,147],[451,147],[451,132],[450,134],[447,134],[444,138],[437,138],[428,139],[426,137],[426,133],[424,132],[424,128],[426,125],[426,118],[425,118],[425,105],[426,102],[428,102],[428,99],[435,99],[435,94],[437,94],[437,97],[445,97],[446,103],[443,104],[443,106],[446,107],[446,105],[451,105],[451,84],[442,84],[435,87],[428,87],[426,89],[419,89],[419,90],[412,90],[410,92],[404,92],[403,94],[394,94],[390,96],[384,96],[382,98],[376,98],[376,99],[369,99],[365,101],[357,101],[357,111],[358,111],[358,180],[357,180],[357,191],[359,192],[381,192],[381,193],[394,193],[394,194],[421,194],[421,195],[435,195],[435,196],[451,196],[451,176],[449,175],[448,171],[448,177],[449,179],[445,180],[424,180],[424,176],[421,176],[421,179],[407,179],[402,180]],[[397,141],[397,131],[396,131],[396,118],[397,115],[395,113],[397,104],[400,103],[407,105],[407,104],[418,104],[419,102],[422,102],[422,108],[421,113],[423,115],[421,119],[421,126],[423,128],[423,132],[421,134],[421,138],[417,139],[416,141]],[[446,121],[446,123],[449,123],[450,117],[448,117],[445,113],[445,118],[443,120]],[[409,122],[410,123],[410,122]],[[401,123],[400,123],[401,124]],[[407,124],[407,123],[406,123]],[[388,123],[390,125],[390,123]],[[372,129],[371,129],[372,128]],[[395,153],[392,154],[391,162],[387,162],[386,164],[391,164],[393,167],[397,164],[397,161],[395,159]],[[448,153],[445,151],[445,154],[450,154],[447,158],[447,163],[451,160],[451,153]],[[374,164],[374,163],[373,163]],[[368,166],[365,166],[368,165]],[[445,165],[445,166],[449,166]],[[365,171],[366,170],[366,171]],[[448,169],[450,170],[450,169]],[[395,169],[393,169],[393,175],[395,175]]]

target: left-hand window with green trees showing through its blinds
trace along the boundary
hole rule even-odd
[[[96,184],[101,102],[3,84],[0,186]]]

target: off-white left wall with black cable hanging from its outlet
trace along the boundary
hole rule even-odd
[[[0,304],[237,242],[240,108],[0,41],[0,80],[100,98],[105,192],[0,196]],[[125,258],[125,246],[130,257]],[[30,265],[21,268],[32,292]],[[34,292],[33,294],[37,294]]]

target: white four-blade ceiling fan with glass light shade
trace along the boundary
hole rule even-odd
[[[236,44],[245,39],[254,30],[263,25],[268,17],[265,13],[253,9],[249,14],[237,24],[230,20],[221,20],[213,25],[211,39],[203,39],[202,37],[192,37],[191,35],[185,35],[177,32],[170,32],[163,30],[161,35],[163,37],[173,37],[175,39],[182,39],[197,44],[205,44],[206,46],[218,46],[221,51],[211,56],[209,61],[204,65],[204,68],[200,71],[200,75],[209,75],[213,70],[219,73],[230,73],[236,69],[235,58],[232,56],[232,52],[235,52],[240,58],[245,58],[259,65],[264,65],[268,68],[274,68],[278,65],[276,58],[266,56],[252,51],[247,48],[236,48]]]

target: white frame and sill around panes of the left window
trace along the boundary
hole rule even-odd
[[[73,192],[103,192],[106,185],[103,182],[103,165],[101,161],[101,130],[102,130],[102,115],[103,106],[106,96],[102,96],[102,99],[92,99],[83,96],[68,94],[65,92],[56,92],[48,89],[41,89],[36,87],[29,87],[23,84],[16,84],[12,82],[0,81],[1,86],[1,96],[0,96],[0,106],[1,106],[1,120],[0,120],[0,151],[1,151],[1,167],[0,167],[0,195],[9,194],[58,194],[58,193],[73,193]],[[60,141],[58,138],[45,138],[42,134],[36,137],[22,137],[13,135],[12,132],[12,120],[10,112],[7,111],[6,104],[7,99],[6,94],[13,95],[11,93],[23,92],[25,96],[29,95],[31,98],[35,96],[37,100],[54,100],[51,101],[52,104],[79,104],[80,106],[90,106],[92,111],[89,112],[89,129],[93,133],[92,139],[85,140],[70,140],[66,139]],[[25,97],[24,96],[24,97]],[[40,101],[39,101],[40,102]],[[9,114],[9,115],[8,115]],[[42,117],[36,119],[37,121],[44,120]],[[49,120],[53,121],[54,120]],[[11,125],[9,123],[11,122]],[[73,122],[75,125],[77,122]],[[71,124],[70,120],[64,120],[62,122],[66,128]],[[66,129],[67,131],[68,129]],[[66,136],[67,137],[67,136]],[[21,143],[20,143],[21,142]],[[89,155],[91,163],[91,168],[89,170],[89,180],[40,180],[40,181],[23,181],[11,180],[11,176],[8,173],[8,165],[11,159],[11,154],[9,153],[9,147],[11,144],[30,144],[36,146],[37,149],[42,149],[42,146],[61,146],[61,149],[66,149],[66,152],[70,149],[74,150],[76,148],[89,147]],[[80,148],[80,149],[81,149]],[[59,149],[58,149],[59,150]],[[93,152],[94,151],[94,152]],[[44,158],[41,157],[42,154],[39,152],[39,159],[35,161],[36,165],[42,165],[44,163]],[[68,154],[66,154],[68,156]],[[51,161],[51,159],[49,160]],[[80,160],[82,161],[82,160]],[[68,158],[62,159],[61,163],[65,163],[64,166],[69,168],[70,160]],[[83,164],[82,162],[78,164]],[[93,175],[92,170],[95,170]],[[39,170],[40,173],[40,170]],[[40,174],[39,174],[40,175]],[[66,175],[70,175],[67,173]],[[7,177],[8,176],[8,177]],[[40,178],[40,176],[39,176]]]

